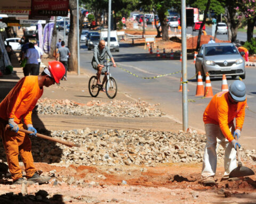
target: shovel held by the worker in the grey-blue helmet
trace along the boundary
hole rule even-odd
[[[237,140],[237,135],[235,135],[235,139]],[[251,176],[254,175],[254,172],[252,171],[252,169],[243,166],[242,162],[241,162],[241,157],[240,157],[240,152],[239,152],[239,147],[238,145],[236,146],[236,155],[238,158],[238,165],[236,168],[234,168],[230,174],[229,174],[229,178],[235,178],[235,177],[243,177],[243,176]]]

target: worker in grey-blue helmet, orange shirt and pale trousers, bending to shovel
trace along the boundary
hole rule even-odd
[[[206,133],[206,146],[203,157],[203,169],[201,183],[214,185],[217,167],[216,149],[219,145],[225,149],[224,168],[225,173],[222,180],[227,180],[229,173],[237,167],[236,146],[240,148],[238,141],[240,137],[246,105],[245,84],[236,80],[229,86],[229,91],[216,94],[208,104],[203,115]],[[234,126],[236,118],[236,126]]]

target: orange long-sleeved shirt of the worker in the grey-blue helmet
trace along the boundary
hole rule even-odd
[[[234,138],[228,125],[236,118],[236,129],[242,130],[245,116],[246,100],[231,104],[228,99],[228,91],[219,92],[214,95],[203,115],[205,124],[213,123],[220,126],[220,130],[225,138],[231,142]]]

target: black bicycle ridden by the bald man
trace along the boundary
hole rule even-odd
[[[113,64],[109,65],[104,65],[107,67],[107,79],[104,83],[102,84],[97,84],[98,78],[97,78],[97,73],[96,76],[92,76],[89,80],[89,92],[92,97],[97,97],[99,95],[100,90],[103,90],[103,86],[105,84],[105,90],[108,98],[115,98],[117,94],[117,84],[116,80],[111,77],[110,74],[110,66]]]

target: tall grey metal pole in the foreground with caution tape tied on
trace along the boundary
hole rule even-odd
[[[182,49],[182,122],[183,131],[188,129],[188,78],[187,78],[187,31],[186,0],[181,0],[181,49]]]

